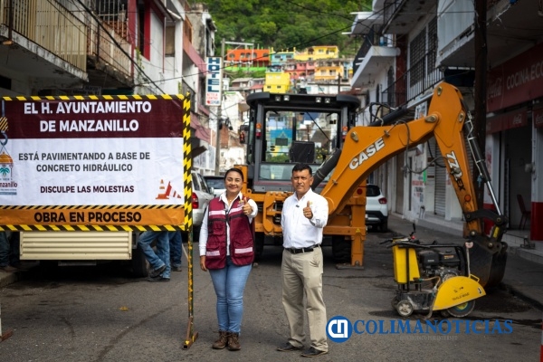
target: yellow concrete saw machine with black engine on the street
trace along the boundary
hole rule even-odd
[[[424,244],[414,237],[414,231],[382,243],[390,243],[387,247],[392,249],[397,283],[392,307],[402,317],[419,312],[430,318],[439,310],[443,317],[462,318],[486,294],[479,278],[470,272],[472,243]]]

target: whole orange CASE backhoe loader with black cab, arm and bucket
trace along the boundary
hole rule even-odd
[[[247,153],[245,164],[238,167],[245,173],[243,193],[259,206],[257,256],[264,244],[281,244],[281,208],[292,193],[291,169],[304,162],[314,171],[313,190],[329,203],[325,242],[331,243],[337,262],[363,267],[367,177],[391,157],[435,138],[462,207],[464,236],[474,243],[472,273],[485,287],[501,281],[507,259],[507,244],[501,239],[507,218],[492,190],[472,116],[455,87],[438,84],[422,118],[405,120],[404,111],[391,112],[370,127],[356,125],[360,101],[351,95],[261,92],[249,95],[247,104],[250,122],[242,130]],[[477,205],[467,148],[495,211]],[[488,234],[483,219],[493,224]]]

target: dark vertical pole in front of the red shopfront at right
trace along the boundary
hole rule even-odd
[[[486,145],[486,87],[487,87],[487,2],[486,0],[475,0],[475,33],[473,35],[475,44],[475,131],[482,154],[485,154]],[[473,173],[473,185],[476,190],[476,200],[480,207],[484,199],[484,184],[479,182],[479,175]]]

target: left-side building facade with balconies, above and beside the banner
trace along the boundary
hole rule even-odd
[[[193,157],[206,153],[205,57],[216,28],[205,5],[0,0],[0,23],[1,95],[190,94]]]

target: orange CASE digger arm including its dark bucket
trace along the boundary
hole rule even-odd
[[[475,242],[470,252],[473,274],[481,278],[482,285],[496,284],[505,270],[507,244],[501,242],[501,236],[507,220],[500,214],[472,130],[472,118],[463,104],[462,94],[444,82],[433,91],[428,115],[424,118],[397,121],[390,126],[350,129],[340,155],[331,161],[337,161],[334,172],[320,193],[329,202],[329,213],[340,212],[357,186],[387,159],[434,137],[466,220],[464,236]],[[489,189],[496,213],[477,205],[466,144],[472,148],[475,165]],[[494,223],[490,235],[483,233],[481,218],[489,218]]]

